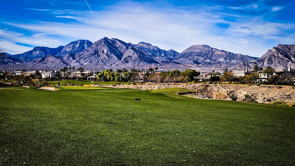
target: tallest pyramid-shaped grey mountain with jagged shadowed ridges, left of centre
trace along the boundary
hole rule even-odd
[[[150,55],[118,39],[102,38],[86,51],[76,55],[76,61],[84,65],[132,66],[158,63]]]

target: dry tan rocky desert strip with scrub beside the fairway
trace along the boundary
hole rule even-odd
[[[237,95],[237,101],[242,101],[244,94],[256,97],[258,103],[272,103],[273,101],[295,102],[294,86],[261,85],[247,86],[234,84],[189,84],[189,83],[147,83],[137,85],[116,85],[115,88],[134,88],[141,90],[163,89],[163,88],[187,88],[192,91],[182,93],[185,96],[207,99],[230,100],[230,93]],[[204,89],[205,87],[205,89]],[[201,90],[201,92],[200,92]]]

